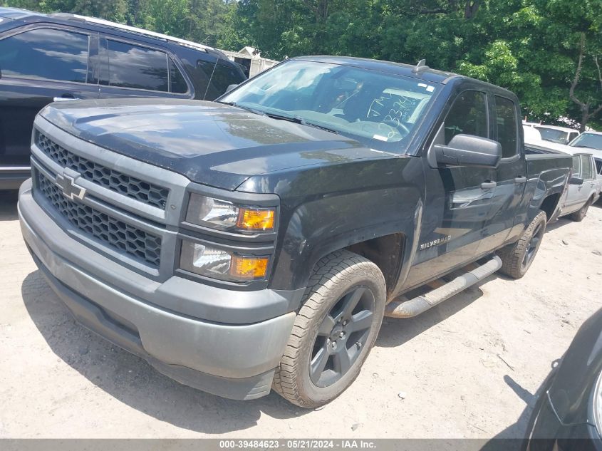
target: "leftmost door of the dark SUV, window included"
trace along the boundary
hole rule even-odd
[[[0,35],[0,165],[28,166],[33,119],[53,100],[98,98],[94,33],[37,24]]]

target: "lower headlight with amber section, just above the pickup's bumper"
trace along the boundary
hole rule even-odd
[[[182,241],[180,268],[225,281],[264,279],[267,256],[239,256],[206,244]]]

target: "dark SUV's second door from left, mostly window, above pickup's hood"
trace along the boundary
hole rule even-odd
[[[100,36],[100,98],[192,98],[177,58],[159,47]]]

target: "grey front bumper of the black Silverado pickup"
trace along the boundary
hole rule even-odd
[[[31,181],[19,192],[21,232],[48,283],[76,320],[115,345],[145,358],[161,373],[180,383],[233,399],[259,398],[269,393],[274,368],[278,366],[291,333],[295,313],[266,321],[227,324],[206,321],[158,306],[132,294],[140,274],[120,266],[72,239],[35,202]],[[100,274],[115,269],[119,279]],[[118,271],[118,272],[117,272]],[[129,273],[132,274],[129,274]],[[132,290],[123,289],[130,280]],[[190,281],[177,277],[153,290],[177,298],[176,292],[190,289]],[[165,285],[170,291],[165,292]],[[196,283],[195,283],[196,284]],[[233,299],[238,291],[197,285],[197,296]],[[274,297],[263,290],[266,299]],[[138,290],[139,292],[139,290]]]

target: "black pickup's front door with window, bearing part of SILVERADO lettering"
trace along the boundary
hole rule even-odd
[[[457,134],[489,138],[487,95],[465,90],[455,98],[431,143],[447,145]],[[417,252],[405,288],[474,261],[494,193],[496,171],[487,167],[432,168],[425,162],[426,197]]]

